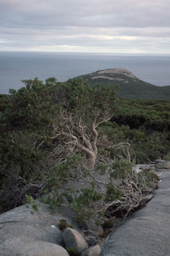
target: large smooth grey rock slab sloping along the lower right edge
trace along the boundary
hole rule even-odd
[[[101,256],[170,255],[170,170],[146,207],[133,213],[102,245]]]

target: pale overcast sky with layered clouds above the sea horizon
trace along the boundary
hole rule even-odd
[[[170,53],[169,0],[0,0],[0,51]]]

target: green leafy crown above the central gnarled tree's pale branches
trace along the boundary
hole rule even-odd
[[[94,120],[98,123],[106,117],[106,112],[114,113],[117,92],[118,86],[96,85],[92,87],[82,79],[70,79],[68,83],[58,85],[54,95],[54,101],[58,102],[55,113],[55,117],[60,121],[58,129],[63,130],[66,124],[61,117],[70,115],[72,124],[78,126],[81,117],[88,133],[92,132]]]

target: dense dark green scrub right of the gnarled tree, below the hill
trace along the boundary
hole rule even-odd
[[[112,123],[128,139],[137,163],[169,159],[169,101],[120,99]]]

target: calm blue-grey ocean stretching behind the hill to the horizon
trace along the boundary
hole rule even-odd
[[[69,78],[122,67],[153,85],[170,85],[170,55],[0,51],[0,93],[24,86],[23,79]]]

